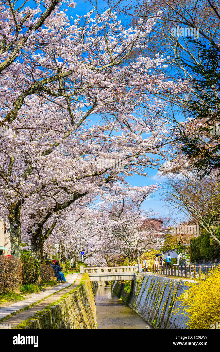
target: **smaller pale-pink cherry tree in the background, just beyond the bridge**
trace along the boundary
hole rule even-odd
[[[156,213],[142,208],[143,202],[159,189],[157,184],[145,187],[117,187],[103,197],[100,208],[108,212],[111,245],[126,256],[130,263],[147,248],[159,248],[165,232],[158,232],[151,218]],[[103,210],[102,210],[103,213]],[[110,246],[111,246],[110,245]],[[133,256],[134,255],[134,256]]]

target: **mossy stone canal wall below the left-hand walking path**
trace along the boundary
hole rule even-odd
[[[88,274],[79,274],[76,288],[22,323],[23,329],[97,329],[96,303]]]

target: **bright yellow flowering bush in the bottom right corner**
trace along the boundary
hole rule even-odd
[[[189,317],[187,329],[213,329],[220,323],[220,265],[199,283],[185,283],[189,290],[176,298],[174,314]]]

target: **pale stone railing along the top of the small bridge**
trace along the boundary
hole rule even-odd
[[[141,272],[142,271],[142,265],[141,264],[136,264],[135,266],[99,266],[99,267],[91,267],[91,268],[85,268],[83,265],[80,265],[80,274],[83,274],[84,272],[87,272],[88,274],[116,274],[116,273],[135,273],[135,272]]]

